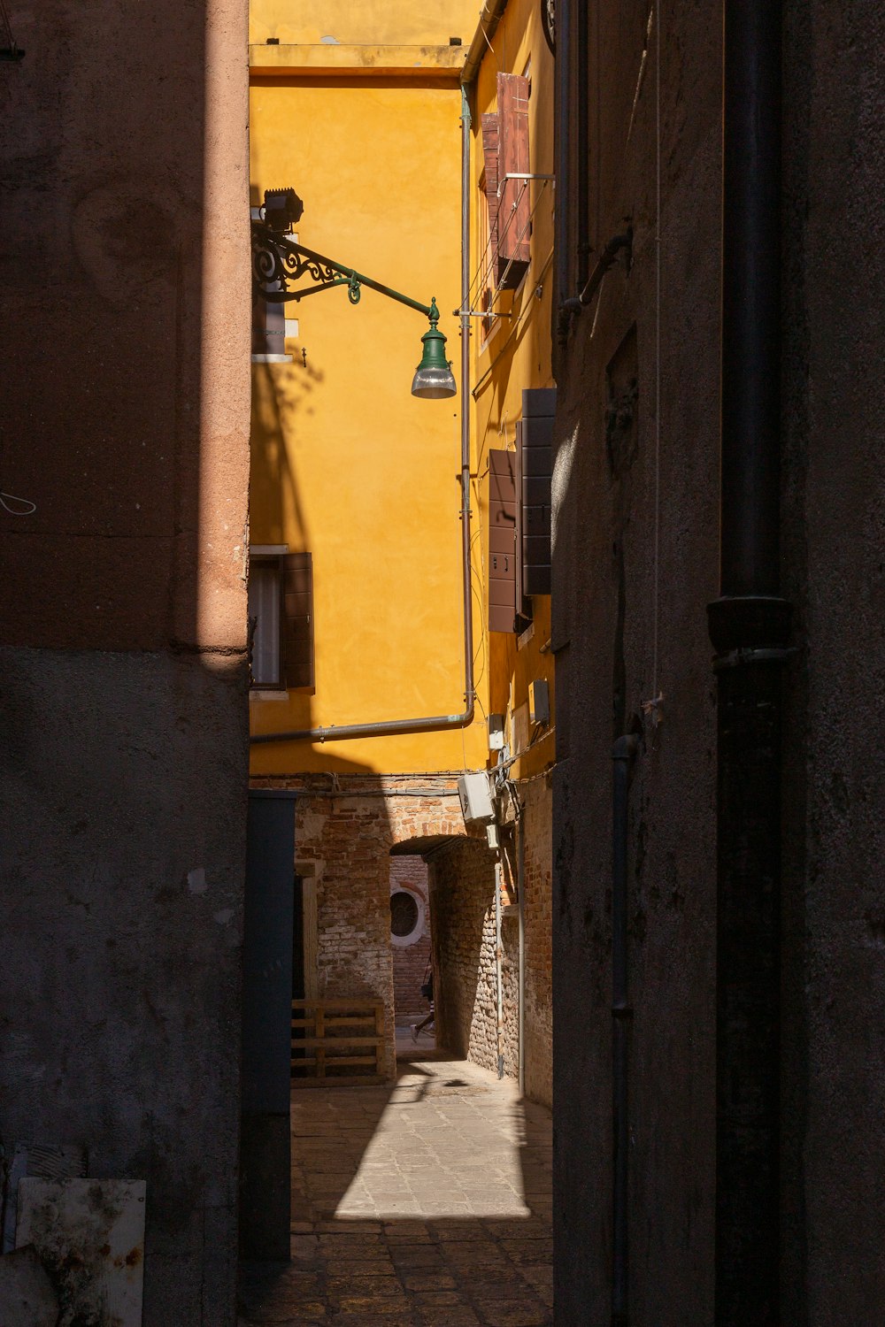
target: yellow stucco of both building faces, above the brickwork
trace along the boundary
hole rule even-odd
[[[297,12],[292,0],[252,0],[253,206],[264,188],[291,184],[305,203],[297,227],[304,244],[422,301],[435,295],[456,377],[456,80],[476,17],[472,0],[421,8],[314,0]],[[268,36],[280,45],[264,45]],[[324,36],[340,45],[321,48]],[[450,36],[463,38],[454,61]],[[414,60],[413,44],[422,44]],[[531,169],[553,170],[553,61],[537,4],[510,0],[492,45],[471,90],[471,271],[486,244],[479,115],[496,106],[499,69],[529,73]],[[517,750],[527,739],[528,683],[547,678],[552,693],[549,598],[535,598],[533,630],[521,646],[512,634],[488,633],[486,609],[488,449],[515,445],[524,387],[553,385],[553,188],[532,188],[539,206],[531,268],[521,288],[496,305],[512,318],[500,320],[486,344],[471,320],[478,718],[466,733],[253,747],[255,775],[482,767],[491,763],[484,714],[508,717]],[[252,731],[456,713],[463,707],[460,398],[410,395],[426,322],[381,295],[364,289],[352,308],[342,289],[324,292],[289,304],[287,316],[299,320],[297,337],[287,342],[293,362],[253,366],[251,543],[313,553],[316,690],[253,697]],[[544,768],[552,747],[541,740],[515,774]]]

